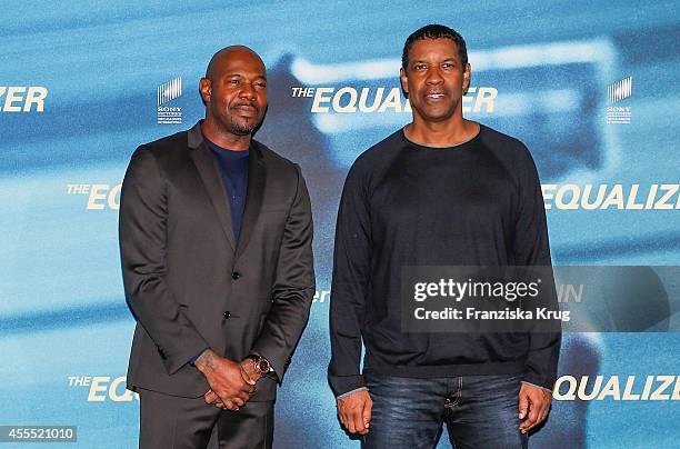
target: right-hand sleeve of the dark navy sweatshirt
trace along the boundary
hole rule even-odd
[[[513,239],[514,265],[551,267],[548,225],[536,164],[529,150],[522,146],[518,164],[519,209]],[[552,281],[552,269],[549,270]],[[550,283],[550,307],[557,310],[554,282]],[[552,390],[557,380],[561,332],[536,331],[530,335],[529,356],[524,381]]]

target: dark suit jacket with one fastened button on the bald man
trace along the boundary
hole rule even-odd
[[[314,292],[312,217],[300,168],[252,141],[246,209],[234,240],[229,203],[200,122],[133,153],[120,198],[120,251],[137,319],[128,388],[200,397],[189,363],[206,348],[256,352],[277,376],[251,400],[273,400]]]

